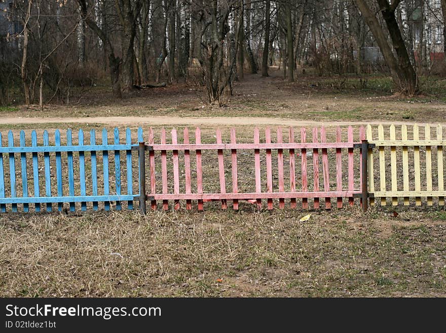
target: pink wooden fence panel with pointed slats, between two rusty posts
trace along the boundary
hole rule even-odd
[[[296,207],[296,199],[302,199],[302,207],[309,208],[308,200],[313,201],[314,208],[319,208],[319,198],[323,198],[325,208],[331,208],[331,198],[336,198],[337,207],[343,206],[343,198],[348,198],[350,205],[353,205],[354,197],[362,196],[362,187],[355,189],[355,176],[359,184],[362,183],[362,155],[361,141],[353,141],[353,129],[349,127],[347,130],[348,139],[342,141],[341,128],[336,130],[336,141],[327,142],[325,128],[320,129],[320,140],[318,139],[318,128],[312,129],[312,142],[307,142],[307,130],[302,128],[300,131],[300,142],[296,142],[294,129],[288,130],[288,142],[283,142],[282,129],[277,129],[275,143],[272,142],[272,135],[270,128],[265,131],[265,139],[261,142],[261,137],[258,128],[254,129],[253,143],[237,143],[235,129],[231,130],[230,142],[222,142],[220,130],[216,131],[215,143],[201,143],[201,131],[199,128],[195,131],[195,143],[190,143],[189,130],[186,128],[183,132],[183,143],[178,143],[176,129],[171,132],[171,142],[166,143],[166,132],[161,131],[161,143],[154,142],[154,133],[150,130],[150,142],[145,147],[149,151],[150,160],[150,192],[144,197],[145,191],[141,194],[141,203],[144,205],[142,210],[145,211],[145,200],[151,201],[152,209],[157,208],[157,200],[162,200],[164,210],[168,209],[168,201],[174,201],[174,208],[180,207],[179,200],[186,201],[186,209],[192,209],[192,200],[197,200],[198,209],[203,209],[203,202],[206,201],[221,201],[221,208],[228,207],[227,201],[232,200],[233,208],[238,209],[239,200],[246,200],[250,203],[255,203],[260,209],[262,207],[262,199],[266,200],[267,208],[273,209],[274,199],[278,200],[279,208],[285,207],[285,199],[289,200],[291,208]],[[365,138],[364,128],[359,130],[358,138]],[[359,157],[358,169],[359,172],[354,173],[354,149],[358,148],[357,156]],[[239,168],[237,164],[238,152],[247,150],[253,151],[254,162],[254,184],[255,190],[252,192],[239,191]],[[202,154],[203,151],[211,151],[217,155],[218,165],[218,181],[219,188],[215,192],[203,192],[203,171],[202,171]],[[231,161],[231,178],[232,191],[227,190],[227,180],[225,173],[225,158],[224,151],[230,152]],[[272,151],[277,152],[277,182],[273,184],[273,158]],[[287,151],[287,160],[284,159],[284,151]],[[347,177],[343,177],[343,153],[347,157]],[[367,150],[365,150],[367,151]],[[172,153],[173,160],[173,189],[168,190],[168,175],[170,170],[167,167],[167,153]],[[184,192],[180,192],[178,154],[183,154],[184,163],[181,166],[185,174],[185,188]],[[196,187],[192,191],[191,180],[191,152],[194,152],[196,157]],[[261,152],[265,152],[264,163],[261,163]],[[329,154],[330,152],[330,154]],[[322,163],[320,163],[319,154],[321,154]],[[155,157],[157,155],[157,157]],[[215,155],[215,154],[213,154]],[[296,155],[301,156],[301,161],[296,161]],[[364,154],[365,158],[367,154]],[[309,160],[311,159],[312,170],[309,170]],[[331,182],[330,182],[330,165],[329,160],[334,163],[332,166]],[[159,162],[161,161],[161,163]],[[366,161],[365,161],[366,162]],[[252,161],[251,161],[252,163]],[[156,168],[161,164],[161,189],[157,188]],[[289,178],[285,181],[285,168],[288,165]],[[322,164],[322,165],[321,165]],[[334,168],[333,168],[334,166]],[[247,166],[244,165],[243,168]],[[322,172],[320,173],[320,169]],[[296,170],[300,171],[300,187],[296,186]],[[366,171],[367,169],[364,168]],[[142,173],[141,173],[142,174]],[[266,174],[266,175],[265,175]],[[309,174],[312,174],[312,183],[309,182]],[[266,178],[266,179],[263,179]],[[322,180],[323,191],[320,189],[319,178]],[[333,178],[336,181],[333,181]],[[215,179],[209,179],[215,182]],[[251,179],[242,179],[243,182],[252,181]],[[145,188],[145,179],[141,179],[142,188]],[[285,184],[287,182],[287,184]],[[335,185],[336,184],[336,185]],[[276,187],[277,191],[273,191]]]

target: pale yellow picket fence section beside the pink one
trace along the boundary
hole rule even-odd
[[[387,198],[394,206],[399,198],[404,205],[410,205],[414,198],[416,206],[421,206],[422,198],[429,206],[436,200],[444,205],[446,140],[442,131],[441,125],[367,126],[368,143],[375,144],[368,150],[370,205],[378,202],[377,198],[381,205],[387,204]]]

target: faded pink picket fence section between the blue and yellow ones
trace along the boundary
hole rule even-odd
[[[346,202],[353,205],[355,198],[362,198],[361,204],[367,201],[364,200],[367,198],[366,181],[362,180],[366,178],[364,173],[367,168],[364,165],[367,165],[369,147],[363,127],[356,135],[357,141],[354,141],[352,127],[347,129],[347,140],[343,140],[340,127],[331,141],[327,141],[324,127],[313,128],[311,139],[306,128],[301,128],[300,133],[296,132],[294,128],[289,128],[288,142],[284,142],[281,128],[277,129],[274,138],[271,129],[267,128],[261,140],[258,128],[255,128],[252,143],[237,143],[235,129],[230,131],[229,142],[222,140],[221,131],[217,129],[215,142],[202,143],[201,130],[197,128],[195,142],[192,143],[189,130],[185,128],[182,142],[179,143],[177,131],[173,129],[167,143],[163,128],[160,143],[155,143],[155,133],[150,129],[149,142],[139,143],[141,210],[145,212],[145,201],[151,202],[152,209],[161,206],[164,210],[169,209],[169,201],[173,202],[174,209],[179,209],[180,200],[185,201],[188,210],[192,209],[193,202],[198,210],[203,210],[203,203],[209,201],[221,201],[222,209],[228,208],[230,201],[235,210],[239,208],[240,200],[256,204],[259,209],[262,208],[262,201],[268,209],[273,209],[275,203],[279,208],[285,208],[286,203],[295,208],[296,199],[302,200],[304,209],[310,207],[309,200],[316,209],[320,207],[320,200],[327,209],[331,208],[332,199],[336,199],[339,208]],[[239,169],[237,162],[241,151],[253,153],[250,162],[254,169],[253,179],[241,176],[241,170],[249,169],[246,161]],[[216,174],[210,179],[204,177],[205,152],[208,156],[216,155],[218,179]],[[273,159],[276,160],[274,163]],[[146,164],[150,170],[147,173]],[[343,168],[347,169],[346,172]],[[330,173],[334,174],[330,176]],[[148,191],[146,178],[149,180]],[[227,181],[227,178],[231,181]],[[210,193],[204,191],[207,182],[218,182],[218,190]],[[241,183],[252,182],[254,191],[240,191]]]

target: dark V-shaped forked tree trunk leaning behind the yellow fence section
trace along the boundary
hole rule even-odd
[[[394,5],[397,6],[399,1],[394,0],[392,5],[389,5],[387,0],[378,0],[378,4],[381,8],[381,13],[384,20],[386,21],[386,32],[383,31],[382,26],[375,16],[375,13],[373,13],[369,9],[365,0],[354,0],[354,2],[358,9],[361,11],[364,20],[366,21],[368,27],[375,37],[378,46],[381,49],[384,59],[389,66],[394,84],[396,85],[396,87],[398,87],[401,93],[407,95],[415,94],[418,91],[417,76],[407,54],[407,49],[404,45],[398,22],[395,18],[396,7],[394,7]],[[395,58],[392,49],[387,42],[387,35],[390,35],[393,48],[395,49],[398,59]]]

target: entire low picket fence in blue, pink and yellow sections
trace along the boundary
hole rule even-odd
[[[135,200],[143,212],[146,201],[164,210],[169,202],[174,209],[184,204],[189,210],[194,203],[203,210],[212,201],[222,209],[228,202],[239,209],[241,201],[259,209],[263,204],[267,209],[329,209],[332,201],[341,208],[355,198],[366,209],[368,198],[372,205],[379,200],[419,206],[422,198],[428,205],[444,205],[446,196],[440,125],[426,125],[421,134],[417,125],[367,126],[356,132],[337,127],[332,133],[315,127],[276,133],[267,128],[261,134],[255,128],[250,138],[239,140],[235,129],[216,130],[215,139],[206,135],[204,142],[199,128],[194,138],[185,128],[182,139],[176,129],[169,138],[165,129],[148,129],[147,140],[139,128],[125,131],[125,144],[117,128],[113,143],[105,129],[100,143],[95,130],[89,144],[82,130],[75,134],[77,144],[71,130],[63,143],[59,130],[51,137],[44,131],[42,139],[32,131],[27,142],[22,130],[15,145],[9,131],[8,144],[2,145],[0,133],[1,212],[7,207],[16,212],[18,205],[27,212],[29,204],[35,211],[52,211],[57,204],[61,211],[64,203],[70,211],[133,209]]]

